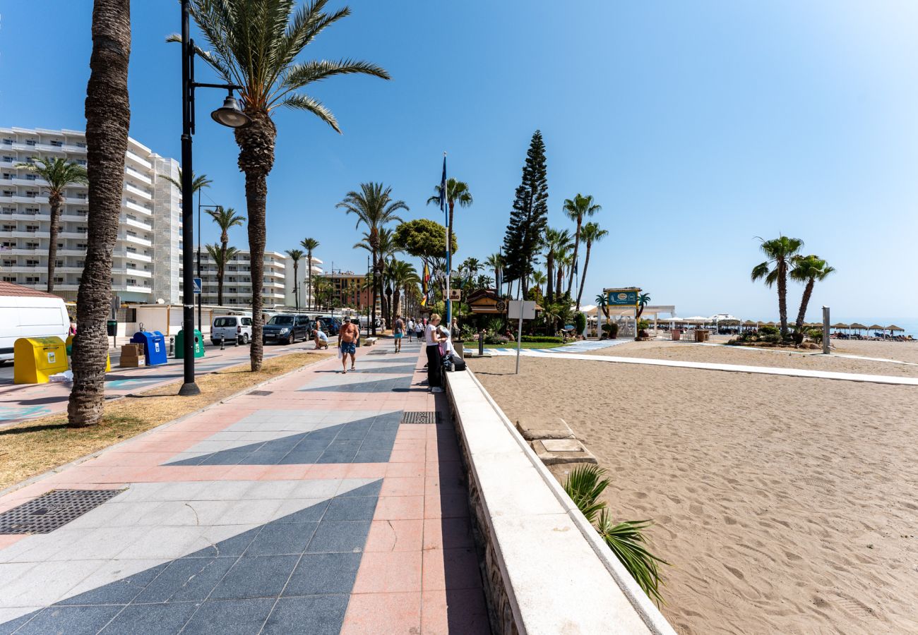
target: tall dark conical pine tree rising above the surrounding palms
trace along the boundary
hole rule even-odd
[[[516,190],[513,211],[504,234],[505,276],[508,281],[523,281],[526,286],[540,238],[548,222],[548,180],[545,175],[545,144],[542,132],[532,134],[522,182]]]

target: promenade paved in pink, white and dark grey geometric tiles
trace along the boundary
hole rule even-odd
[[[0,497],[0,633],[489,632],[445,400],[391,351]]]

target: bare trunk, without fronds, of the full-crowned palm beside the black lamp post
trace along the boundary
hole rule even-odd
[[[267,113],[250,110],[248,128],[236,128],[239,169],[245,173],[245,202],[249,216],[249,257],[252,263],[252,372],[262,369],[262,284],[264,284],[264,217],[267,205],[267,176],[274,166],[274,140],[277,128]]]

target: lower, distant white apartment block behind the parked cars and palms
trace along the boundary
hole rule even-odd
[[[197,256],[196,256],[197,257]],[[312,259],[313,275],[321,274],[319,268],[321,261],[318,258]],[[303,281],[306,278],[306,262],[299,262],[300,293],[304,293],[306,285]],[[184,271],[182,263],[179,262],[179,278]],[[197,269],[195,269],[197,271]],[[227,263],[226,271],[223,273],[223,306],[251,306],[252,305],[252,260],[249,251],[240,251]],[[293,262],[285,253],[279,251],[264,252],[264,275],[262,296],[265,308],[296,306],[296,297],[294,296],[294,276]],[[201,251],[201,291],[203,297],[201,301],[205,305],[217,305],[217,263],[210,258],[207,251]],[[179,289],[182,284],[179,281]],[[301,296],[300,306],[305,306]]]

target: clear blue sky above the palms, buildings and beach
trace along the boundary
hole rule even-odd
[[[179,156],[179,6],[135,0],[131,135]],[[341,3],[331,2],[332,6]],[[547,147],[550,223],[577,192],[610,229],[585,297],[636,284],[682,316],[777,316],[749,282],[756,236],[806,241],[838,270],[809,317],[918,316],[918,5],[909,2],[353,0],[353,16],[306,57],[383,65],[391,82],[341,77],[314,95],[344,134],[279,111],[268,247],[311,236],[327,266],[361,271],[353,217],[335,204],[391,184],[407,217],[439,182],[442,152],[475,205],[457,212],[461,260],[497,251],[532,131]],[[89,0],[0,4],[0,125],[84,128]],[[199,78],[206,78],[203,65]],[[207,80],[204,80],[207,81]],[[237,149],[198,94],[196,172],[207,196],[244,210]],[[205,228],[205,240],[217,232]],[[244,247],[244,230],[231,241]],[[799,286],[790,304],[796,312]]]

